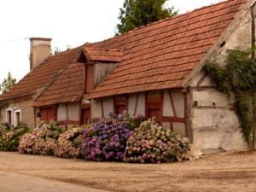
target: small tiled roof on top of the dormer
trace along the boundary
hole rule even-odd
[[[84,46],[84,52],[90,61],[120,62],[123,57],[123,52],[118,49],[101,49],[89,44]]]

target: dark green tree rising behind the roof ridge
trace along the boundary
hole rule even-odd
[[[177,15],[174,8],[165,8],[168,0],[125,0],[120,9],[117,25],[118,34],[129,32],[138,26],[146,26],[154,21]]]

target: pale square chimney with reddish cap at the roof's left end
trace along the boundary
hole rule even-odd
[[[51,38],[30,38],[30,70],[49,57],[50,42]]]

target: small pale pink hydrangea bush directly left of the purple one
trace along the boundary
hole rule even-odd
[[[84,129],[89,129],[92,125],[74,127],[62,133],[57,141],[55,148],[55,156],[62,158],[80,158],[81,142]]]

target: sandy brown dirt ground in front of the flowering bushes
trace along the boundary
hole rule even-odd
[[[1,172],[91,189],[84,191],[256,191],[255,152],[215,154],[201,160],[162,165],[95,163],[0,152]],[[0,176],[0,191],[3,183]],[[22,186],[26,183],[29,185],[31,179],[15,181]],[[23,191],[26,190],[14,192]],[[55,189],[49,186],[48,191]]]

